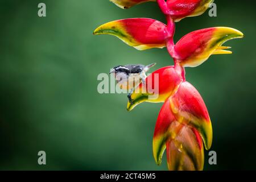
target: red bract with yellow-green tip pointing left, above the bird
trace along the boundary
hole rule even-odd
[[[166,47],[166,24],[150,18],[129,18],[102,24],[94,35],[109,34],[138,50]]]

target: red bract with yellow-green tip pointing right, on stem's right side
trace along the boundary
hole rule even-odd
[[[175,44],[175,61],[183,67],[196,67],[206,61],[210,55],[232,53],[223,47],[230,39],[242,38],[242,32],[229,27],[213,27],[193,31]]]

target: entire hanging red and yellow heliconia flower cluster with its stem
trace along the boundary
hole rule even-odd
[[[127,9],[139,3],[154,0],[110,0]],[[242,38],[242,32],[229,27],[213,27],[193,31],[174,44],[175,22],[189,16],[203,14],[213,0],[157,0],[166,16],[167,24],[149,18],[115,20],[96,28],[95,35],[117,36],[138,50],[167,47],[174,65],[160,68],[133,90],[127,110],[142,102],[164,102],[156,121],[153,154],[160,165],[164,150],[168,169],[202,170],[204,147],[212,145],[212,124],[207,107],[196,88],[185,80],[185,67],[196,67],[210,55],[232,53],[222,46],[227,40]],[[159,97],[150,100],[147,84],[159,77]],[[154,82],[154,81],[153,81]]]

